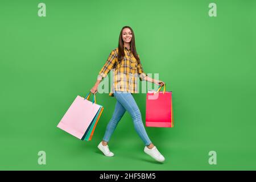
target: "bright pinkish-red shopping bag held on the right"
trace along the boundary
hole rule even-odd
[[[146,99],[146,126],[147,127],[174,127],[172,117],[172,92],[150,90]]]

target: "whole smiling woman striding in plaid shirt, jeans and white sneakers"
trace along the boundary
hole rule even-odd
[[[108,143],[118,122],[127,110],[133,119],[135,130],[145,144],[144,152],[158,162],[163,162],[165,160],[164,156],[160,154],[156,146],[148,138],[142,122],[141,112],[132,94],[137,93],[137,74],[141,81],[146,80],[161,86],[164,85],[164,82],[154,80],[143,72],[139,55],[136,52],[134,32],[129,26],[122,28],[119,35],[118,48],[115,48],[110,53],[104,67],[99,72],[96,84],[90,92],[93,94],[97,93],[98,85],[108,75],[110,69],[114,69],[114,84],[109,96],[115,97],[117,103],[115,104],[112,119],[110,119],[106,127],[104,138],[98,144],[98,148],[104,155],[114,156],[113,152],[109,150]]]

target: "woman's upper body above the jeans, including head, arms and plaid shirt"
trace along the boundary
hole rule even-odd
[[[135,35],[129,26],[122,28],[119,34],[118,48],[110,52],[110,55],[97,77],[97,82],[90,90],[97,93],[97,88],[102,79],[108,76],[111,69],[114,69],[114,85],[111,84],[109,96],[114,97],[115,91],[138,93],[137,76],[140,81],[149,81],[156,85],[163,86],[164,82],[147,76],[143,71],[142,63],[135,46]]]

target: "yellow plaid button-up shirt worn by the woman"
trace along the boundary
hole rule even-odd
[[[143,72],[141,64],[137,63],[133,53],[130,49],[124,48],[125,57],[123,57],[121,64],[118,62],[118,48],[115,48],[109,55],[108,60],[99,72],[99,76],[104,79],[110,70],[113,71],[113,84],[109,93],[110,97],[114,96],[114,91],[124,91],[130,93],[138,93],[137,91],[137,77],[139,80],[144,80],[147,76]],[[139,56],[139,55],[138,55]]]

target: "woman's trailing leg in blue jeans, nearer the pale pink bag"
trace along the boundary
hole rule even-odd
[[[125,108],[120,104],[120,102],[117,100],[117,104],[115,104],[115,110],[112,115],[112,118],[110,119],[108,126],[106,127],[105,135],[103,137],[103,141],[108,143],[110,140],[110,137],[114,133],[115,128],[117,127],[118,122],[123,117],[123,114],[125,114]],[[104,146],[106,145],[104,144]]]

